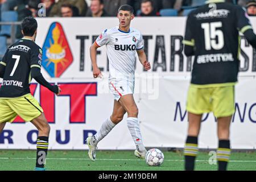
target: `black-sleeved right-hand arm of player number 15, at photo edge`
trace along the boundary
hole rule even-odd
[[[247,18],[248,15],[242,7],[238,7],[236,11],[237,15],[237,28],[240,32],[245,35],[246,40],[256,48],[256,35],[251,27],[250,20]]]

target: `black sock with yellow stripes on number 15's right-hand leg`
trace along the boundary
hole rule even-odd
[[[217,159],[218,159],[218,171],[226,171],[228,167],[230,156],[230,142],[229,140],[219,140]]]

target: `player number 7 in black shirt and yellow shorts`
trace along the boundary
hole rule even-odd
[[[17,115],[31,121],[39,130],[37,140],[36,168],[43,171],[48,150],[49,124],[43,109],[30,93],[34,78],[39,84],[59,95],[61,89],[49,84],[42,76],[42,49],[35,44],[38,24],[32,17],[22,22],[23,39],[11,45],[0,62],[0,133],[6,122],[13,122]]]

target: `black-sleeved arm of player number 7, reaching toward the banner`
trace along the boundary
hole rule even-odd
[[[30,54],[30,68],[31,68],[31,77],[34,78],[40,85],[51,90],[57,96],[59,96],[61,89],[58,85],[51,85],[46,79],[44,79],[41,73],[41,65],[42,65],[42,49],[35,48],[31,50]]]

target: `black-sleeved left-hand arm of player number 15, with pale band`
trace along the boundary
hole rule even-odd
[[[188,18],[187,18],[183,44],[184,44],[184,53],[186,56],[195,55],[195,39],[193,38],[193,34],[192,34],[192,22],[191,22],[190,15],[188,15]]]

